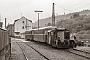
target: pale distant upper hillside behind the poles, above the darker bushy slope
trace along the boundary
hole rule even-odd
[[[80,11],[80,12],[69,13],[69,14],[66,14],[66,15],[58,15],[58,16],[55,17],[55,22],[57,23],[58,21],[61,21],[61,20],[70,19],[70,17],[73,16],[75,13],[79,13],[80,16],[81,15],[90,15],[90,10],[83,10],[83,11]],[[52,18],[51,17],[41,19],[39,21],[39,26],[40,27],[47,26],[48,23],[52,23]],[[38,25],[37,21],[35,23],[33,23],[33,27],[37,27],[37,25]]]

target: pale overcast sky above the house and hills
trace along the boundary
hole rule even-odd
[[[7,18],[7,23],[14,23],[14,20],[22,16],[37,21],[35,10],[42,10],[40,19],[52,15],[52,3],[55,3],[55,14],[62,15],[64,12],[72,13],[83,9],[90,9],[90,0],[0,0],[1,21]]]

